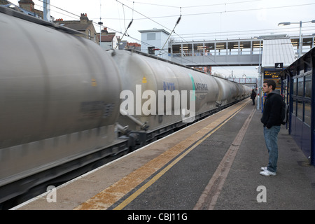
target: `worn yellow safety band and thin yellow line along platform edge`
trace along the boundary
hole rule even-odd
[[[190,153],[190,151],[193,151],[193,149],[196,148],[198,145],[200,145],[202,141],[210,137],[211,134],[214,134],[214,132],[216,132],[220,127],[225,125],[225,123],[227,123],[230,119],[232,119],[239,111],[241,111],[241,109],[244,109],[244,107],[249,102],[251,101],[245,100],[244,102],[242,102],[242,104],[237,106],[235,109],[221,116],[220,119],[215,120],[213,123],[202,128],[195,134],[192,134],[190,137],[188,137],[184,141],[181,141],[179,144],[176,144],[165,153],[162,153],[157,158],[154,158],[150,162],[146,163],[146,165],[128,174],[120,181],[114,183],[112,186],[109,186],[109,188],[106,188],[105,190],[98,193],[97,195],[94,195],[94,197],[91,197],[90,200],[83,202],[75,209],[76,210],[108,209],[114,203],[118,202],[118,200],[120,200],[123,196],[129,193],[131,190],[133,190],[134,188],[137,188],[137,186],[139,186],[140,183],[143,183],[152,174],[154,174],[159,169],[164,167],[168,162],[176,158],[176,156],[178,156],[180,153],[185,151],[186,148],[190,147],[193,144],[193,146],[191,146],[188,149],[188,151],[186,151],[181,156],[179,156],[179,158],[176,158],[176,160],[174,160],[171,164],[169,164],[167,167],[162,169],[161,172],[153,176],[153,178],[150,181],[148,181],[148,183],[144,184],[144,186],[139,188],[135,193],[130,195],[130,197],[128,197],[125,201],[120,203],[115,208],[115,210],[123,209],[124,207],[127,206],[127,204],[130,204],[130,202],[132,202],[136,197],[138,197],[141,193],[143,193],[144,190],[146,190],[153,183],[155,183],[155,181],[160,179],[160,177],[163,174],[165,174],[169,169],[171,169],[174,165],[176,165],[176,163],[179,162],[183,157],[185,157],[185,155]],[[211,132],[209,132],[209,130],[211,130]],[[205,134],[207,135],[205,136]],[[195,142],[197,139],[200,139],[200,140]]]

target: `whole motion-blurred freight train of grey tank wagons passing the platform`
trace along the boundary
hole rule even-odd
[[[195,106],[193,120],[251,94],[163,59],[102,50],[78,31],[8,8],[0,7],[0,29],[0,204],[187,125],[176,100],[158,113],[151,97],[159,91],[187,91],[180,101]]]

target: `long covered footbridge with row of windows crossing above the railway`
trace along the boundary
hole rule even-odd
[[[314,47],[314,36],[302,36],[302,54]],[[234,40],[169,43],[169,60],[186,66],[258,66],[291,64],[298,54],[299,36],[267,35]],[[276,57],[276,58],[275,58]],[[279,58],[281,57],[281,58]],[[269,66],[268,64],[268,66]]]

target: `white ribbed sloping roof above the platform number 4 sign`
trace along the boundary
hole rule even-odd
[[[290,38],[264,39],[262,48],[262,67],[274,67],[283,63],[287,67],[295,61],[295,53]]]

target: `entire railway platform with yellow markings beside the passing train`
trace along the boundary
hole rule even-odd
[[[246,99],[13,210],[314,210],[315,167],[284,125],[276,176],[259,174],[261,115]]]

